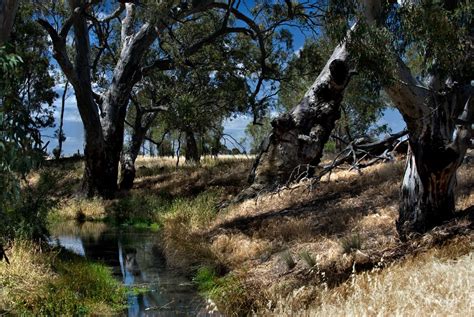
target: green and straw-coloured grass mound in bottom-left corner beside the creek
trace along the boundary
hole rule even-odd
[[[104,315],[124,307],[124,287],[101,264],[18,241],[9,258],[0,262],[0,313]]]

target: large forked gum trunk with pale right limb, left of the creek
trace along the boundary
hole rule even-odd
[[[49,21],[38,19],[38,23],[48,32],[53,43],[53,56],[74,88],[77,105],[85,130],[85,169],[83,193],[89,197],[100,195],[105,198],[114,196],[118,184],[118,167],[123,147],[124,123],[127,106],[134,85],[144,73],[142,58],[155,41],[158,33],[164,30],[171,18],[168,9],[174,10],[182,18],[194,12],[204,10],[210,1],[187,3],[174,7],[174,2],[163,9],[162,19],[156,25],[144,23],[137,30],[135,4],[132,1],[118,1],[117,9],[101,19],[109,22],[125,11],[121,23],[120,56],[115,65],[110,87],[103,95],[92,90],[91,46],[86,10],[91,3],[85,0],[69,0],[70,16],[64,20],[60,30],[56,30]],[[169,7],[169,8],[168,8]],[[67,37],[74,30],[75,61],[67,52]],[[92,65],[92,67],[91,67]],[[168,69],[168,64],[157,63],[156,68]]]

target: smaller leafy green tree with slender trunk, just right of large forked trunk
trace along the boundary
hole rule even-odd
[[[217,131],[226,117],[249,110],[251,91],[245,77],[249,70],[244,69],[243,59],[229,58],[237,50],[220,56],[215,53],[215,45],[193,58],[202,63],[200,66],[181,65],[166,75],[151,76],[139,95],[141,102],[133,101],[134,110],[129,113],[130,143],[121,160],[122,189],[133,185],[135,159],[152,127],[162,130],[161,140],[171,132],[183,135],[186,162],[198,164],[201,153],[197,135]],[[249,51],[245,58],[248,56]]]

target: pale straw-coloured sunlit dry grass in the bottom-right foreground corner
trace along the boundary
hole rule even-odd
[[[264,315],[472,316],[474,246],[461,239],[384,270],[354,275],[334,289],[302,287]],[[467,254],[466,254],[467,253]],[[301,309],[307,301],[309,308]]]

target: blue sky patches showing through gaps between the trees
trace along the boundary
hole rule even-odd
[[[295,54],[303,47],[305,39],[308,34],[302,33],[298,28],[290,28],[290,32],[293,34],[293,50]],[[63,93],[63,86],[58,85],[55,87],[55,91],[58,96],[61,96]],[[71,89],[71,88],[70,88]],[[53,138],[54,131],[59,126],[59,115],[61,109],[61,98],[57,98],[54,102],[55,107],[55,122],[56,127],[44,129],[42,131],[42,136],[44,142],[50,142],[48,145],[48,152],[51,153],[52,150],[57,147],[57,140]],[[231,135],[235,140],[241,140],[245,137],[245,128],[249,122],[252,121],[252,117],[249,115],[239,115],[236,118],[228,119],[224,122],[224,133]],[[402,117],[397,110],[388,109],[384,112],[383,117],[379,120],[378,124],[387,124],[393,132],[398,132],[405,127]],[[84,149],[84,129],[82,121],[77,110],[76,98],[73,93],[69,94],[69,97],[66,99],[65,103],[65,113],[64,113],[64,133],[66,136],[66,141],[63,143],[63,155],[71,156],[75,153],[82,153]],[[229,144],[227,141],[228,147],[234,147],[234,145]],[[246,149],[249,149],[249,143],[244,144]]]

